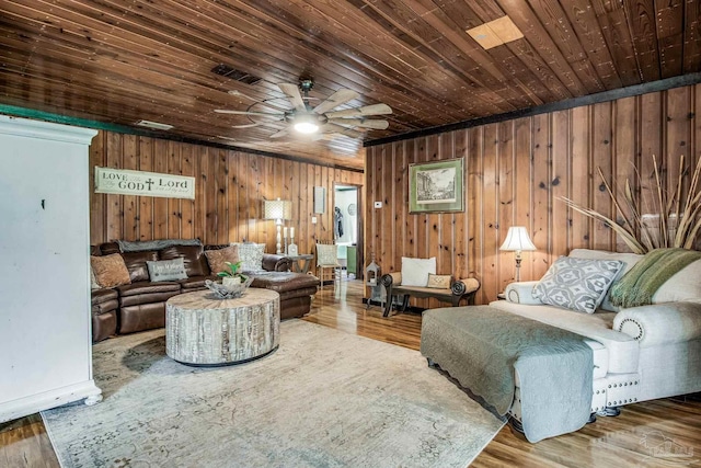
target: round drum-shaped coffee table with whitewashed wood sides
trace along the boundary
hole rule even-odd
[[[209,289],[165,303],[165,353],[194,366],[222,366],[263,357],[279,345],[280,296],[250,287],[218,299]]]

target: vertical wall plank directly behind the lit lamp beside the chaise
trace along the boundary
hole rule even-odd
[[[525,226],[528,233],[532,237],[532,159],[531,159],[531,124],[532,118],[519,118],[514,125],[514,203],[515,213],[514,226]],[[505,236],[505,233],[503,233]],[[524,252],[521,262],[521,281],[533,279],[533,255],[531,252]],[[507,278],[515,277],[515,262],[513,253],[504,256],[505,264],[509,265],[509,274]],[[506,260],[508,259],[508,261]]]

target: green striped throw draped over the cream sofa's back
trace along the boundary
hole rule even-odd
[[[653,296],[667,279],[699,259],[701,252],[696,250],[652,250],[611,286],[610,301],[624,308],[652,304]]]

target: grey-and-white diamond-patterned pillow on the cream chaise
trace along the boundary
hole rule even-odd
[[[624,263],[561,256],[533,287],[543,304],[594,313]]]

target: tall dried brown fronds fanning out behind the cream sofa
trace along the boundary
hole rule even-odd
[[[673,191],[665,189],[654,155],[653,163],[655,168],[653,172],[654,184],[651,189],[655,192],[655,196],[652,197],[652,207],[640,205],[628,179],[622,192],[617,192],[614,185],[606,180],[601,169],[597,168],[613,202],[616,213],[621,217],[620,222],[567,197],[562,196],[560,199],[575,212],[606,222],[634,253],[646,253],[653,249],[671,247],[693,249],[699,232],[701,232],[701,217],[699,216],[701,215],[701,158],[691,174],[686,196],[682,196],[685,175],[687,174],[683,156],[679,159],[679,178]],[[637,182],[639,186],[643,185],[640,173],[637,173]],[[656,219],[652,225],[647,221],[651,218]]]

